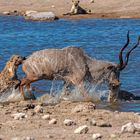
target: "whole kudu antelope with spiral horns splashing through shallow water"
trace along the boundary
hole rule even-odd
[[[80,93],[85,96],[84,80],[97,83],[99,80],[107,82],[110,89],[108,101],[113,102],[118,98],[120,90],[120,71],[128,64],[129,55],[138,45],[134,45],[123,60],[122,53],[129,44],[129,32],[127,42],[119,53],[119,64],[109,61],[92,59],[82,49],[77,47],[66,47],[63,49],[45,49],[34,52],[23,61],[23,72],[25,78],[21,80],[20,92],[24,98],[23,86],[26,85],[30,93],[30,83],[42,79],[64,80],[66,85],[73,84],[78,87]]]

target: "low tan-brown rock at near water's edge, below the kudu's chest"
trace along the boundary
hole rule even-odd
[[[74,109],[72,109],[72,113],[78,113],[78,112],[87,112],[90,110],[95,110],[96,106],[95,104],[89,102],[86,104],[79,104]]]

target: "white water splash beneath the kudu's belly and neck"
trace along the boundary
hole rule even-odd
[[[47,95],[44,95],[43,97],[39,97],[38,100],[41,100],[41,102],[48,104],[56,104],[59,103],[62,100],[66,101],[86,101],[87,97],[90,99],[90,101],[93,102],[101,102],[106,101],[108,96],[108,87],[105,83],[102,83],[102,81],[99,81],[97,84],[91,84],[88,81],[85,81],[84,87],[86,89],[87,96],[83,97],[78,88],[74,85],[69,85],[67,89],[62,86],[61,81],[53,80],[52,85],[50,88],[50,92],[47,93]],[[39,90],[38,90],[39,91]],[[37,94],[38,95],[38,94]]]

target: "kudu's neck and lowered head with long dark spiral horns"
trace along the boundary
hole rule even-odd
[[[92,59],[90,57],[87,57],[87,64],[89,67],[89,71],[92,75],[93,83],[97,83],[100,80],[103,80],[103,82],[106,82],[109,87],[109,96],[108,101],[114,102],[118,99],[118,93],[120,90],[120,72],[127,66],[129,55],[130,53],[139,45],[140,37],[138,37],[138,42],[128,50],[125,56],[125,60],[123,60],[122,53],[124,49],[129,44],[129,32],[127,33],[127,42],[126,44],[121,48],[119,53],[119,64],[115,64],[113,62],[109,61],[103,61],[103,60],[96,60]]]

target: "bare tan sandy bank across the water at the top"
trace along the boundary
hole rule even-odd
[[[71,0],[0,0],[0,12],[3,11],[52,11],[63,18],[140,18],[140,0],[80,0],[83,8],[90,9],[90,15],[62,16],[71,9]]]

